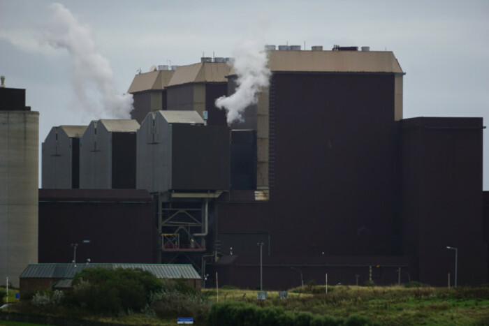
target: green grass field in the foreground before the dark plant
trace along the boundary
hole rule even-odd
[[[218,299],[219,303],[247,302],[263,307],[279,306],[286,311],[310,311],[344,318],[356,313],[381,325],[489,325],[489,287],[334,286],[328,288],[326,295],[324,286],[304,286],[289,290],[287,299],[279,299],[277,291],[268,291],[268,299],[260,301],[256,299],[257,294],[256,290],[224,288],[219,289],[218,298],[216,289],[203,289],[203,295],[212,302],[218,302]],[[90,318],[126,325],[176,325],[175,319],[161,320],[143,313]],[[0,320],[0,325],[29,324]]]

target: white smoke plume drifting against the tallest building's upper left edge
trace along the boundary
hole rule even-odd
[[[245,40],[234,50],[233,69],[238,75],[238,87],[231,96],[217,98],[217,108],[226,109],[228,124],[242,121],[242,113],[252,104],[256,104],[256,94],[270,84],[268,56],[254,40]]]

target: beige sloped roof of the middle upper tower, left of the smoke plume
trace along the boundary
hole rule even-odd
[[[226,62],[200,62],[189,66],[180,66],[170,79],[168,86],[189,82],[227,82],[231,67]]]

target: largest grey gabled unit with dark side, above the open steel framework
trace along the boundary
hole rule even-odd
[[[204,126],[196,111],[150,112],[138,131],[137,188],[228,189],[229,133],[227,126]]]

